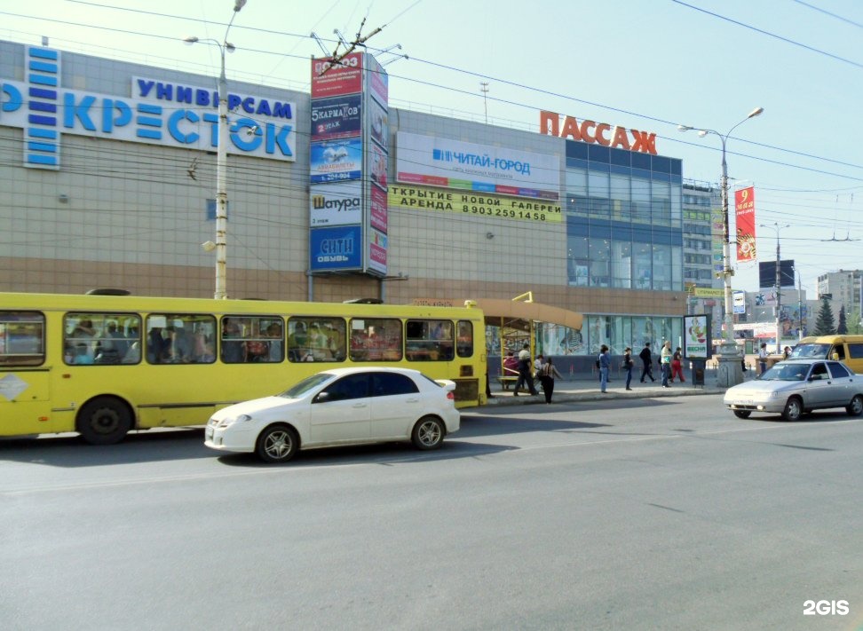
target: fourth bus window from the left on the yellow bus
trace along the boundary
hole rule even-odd
[[[222,318],[220,348],[226,364],[279,362],[284,359],[284,323],[278,316]]]

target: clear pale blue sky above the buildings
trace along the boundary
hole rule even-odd
[[[124,9],[118,7],[123,6]],[[233,0],[33,0],[0,3],[0,38],[112,59],[218,73]],[[684,177],[716,183],[719,139],[733,180],[756,186],[756,223],[780,231],[809,297],[819,274],[863,268],[863,2],[859,0],[249,0],[229,41],[232,78],[308,91],[309,57],[366,18],[370,51],[400,44],[386,66],[392,106],[538,130],[548,109],[654,131]],[[382,61],[395,59],[392,54]],[[487,82],[487,104],[480,83]],[[732,200],[733,201],[733,200]],[[732,209],[733,210],[733,209]],[[776,231],[759,229],[773,260]],[[734,287],[757,288],[742,265]]]

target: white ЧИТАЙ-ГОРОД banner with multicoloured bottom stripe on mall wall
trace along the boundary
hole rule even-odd
[[[558,200],[558,155],[530,154],[404,131],[399,132],[396,142],[398,182]]]

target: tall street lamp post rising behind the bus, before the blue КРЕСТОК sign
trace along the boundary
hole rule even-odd
[[[210,42],[218,46],[221,57],[221,71],[218,75],[218,145],[216,146],[216,291],[213,297],[227,297],[227,79],[225,77],[225,53],[234,52],[234,44],[227,41],[228,31],[234,24],[234,18],[245,6],[247,0],[234,0],[234,14],[225,29],[225,36],[219,42],[215,39],[200,39],[189,36],[183,41],[189,44],[195,42]]]

